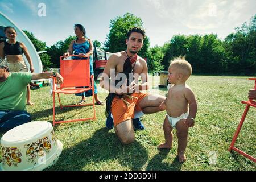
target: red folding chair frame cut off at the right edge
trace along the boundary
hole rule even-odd
[[[249,78],[249,80],[255,80],[254,89],[256,89],[256,78]],[[237,131],[234,134],[234,137],[233,137],[232,142],[230,144],[229,151],[231,151],[231,150],[237,151],[239,154],[242,154],[246,158],[248,158],[250,160],[253,160],[253,162],[256,162],[256,159],[253,156],[251,156],[249,154],[246,154],[245,152],[243,152],[243,151],[239,150],[238,148],[234,147],[234,143],[236,143],[238,134],[240,133],[241,127],[243,125],[243,122],[245,121],[245,117],[246,117],[246,115],[248,113],[248,110],[250,109],[250,106],[256,107],[256,102],[253,101],[253,100],[241,101],[241,102],[242,102],[242,104],[246,104],[246,107],[245,107],[245,111],[243,111],[243,115],[242,115],[241,121],[238,124]]]

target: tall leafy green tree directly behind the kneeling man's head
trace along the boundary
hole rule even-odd
[[[133,27],[143,28],[143,22],[141,18],[130,13],[126,13],[123,17],[117,16],[110,20],[110,31],[105,42],[106,51],[119,52],[127,49],[126,34],[129,29]],[[138,52],[138,55],[145,57],[149,46],[149,39],[146,37],[144,39],[143,47],[141,51]]]

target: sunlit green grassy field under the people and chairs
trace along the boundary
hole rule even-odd
[[[105,106],[96,106],[96,121],[72,122],[55,126],[57,139],[63,143],[58,162],[48,170],[255,170],[251,160],[228,148],[241,119],[247,92],[254,82],[248,77],[191,76],[188,84],[195,92],[198,110],[195,127],[189,129],[186,150],[187,162],[177,160],[175,131],[173,148],[157,149],[164,142],[162,129],[165,111],[145,115],[143,131],[135,131],[136,140],[127,146],[119,142],[114,130],[105,127]],[[158,88],[159,77],[150,77],[150,93],[166,94],[167,88]],[[98,86],[98,96],[108,94]],[[61,95],[64,104],[76,103],[80,97]],[[89,98],[91,99],[91,98]],[[28,106],[34,121],[52,122],[52,97],[49,86],[32,90],[35,106]],[[83,118],[92,115],[92,107],[72,107],[60,110],[57,120]],[[237,139],[236,147],[256,156],[256,114],[251,108]],[[212,160],[217,156],[217,160]],[[0,155],[1,159],[1,155]]]

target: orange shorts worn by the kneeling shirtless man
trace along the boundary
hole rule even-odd
[[[124,97],[124,99],[131,105],[126,105],[125,102],[123,102],[123,100],[118,96],[114,97],[111,105],[111,113],[114,119],[114,126],[117,126],[123,121],[134,118],[135,111],[142,111],[141,107],[139,106],[139,102],[141,102],[144,97],[148,96],[148,93],[133,93],[131,96],[138,98],[138,100],[136,98],[131,100],[127,97]]]

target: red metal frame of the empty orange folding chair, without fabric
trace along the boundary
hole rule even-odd
[[[70,55],[70,56],[77,56],[77,55]],[[60,57],[60,59],[62,59],[62,58],[63,58],[63,56]],[[89,59],[89,56],[88,56],[88,59]],[[88,121],[88,120],[95,120],[96,119],[96,110],[95,110],[95,101],[94,101],[94,97],[95,97],[94,96],[94,75],[90,76],[90,80],[91,80],[91,84],[90,84],[91,86],[89,88],[76,88],[75,90],[77,90],[76,93],[82,93],[82,92],[85,92],[87,90],[92,90],[92,94],[93,94],[93,102],[92,103],[81,104],[81,105],[62,105],[61,101],[60,101],[60,93],[70,94],[68,92],[69,89],[61,90],[61,88],[56,88],[56,86],[55,86],[56,78],[53,77],[53,127],[55,126],[55,124],[59,124],[59,123],[68,123],[68,122],[76,122],[76,121]],[[65,82],[65,80],[64,80],[64,82]],[[72,119],[72,120],[67,120],[67,121],[55,121],[55,93],[57,93],[57,95],[58,95],[60,109],[63,109],[63,107],[93,105],[93,117],[92,118],[82,118],[82,119]]]

